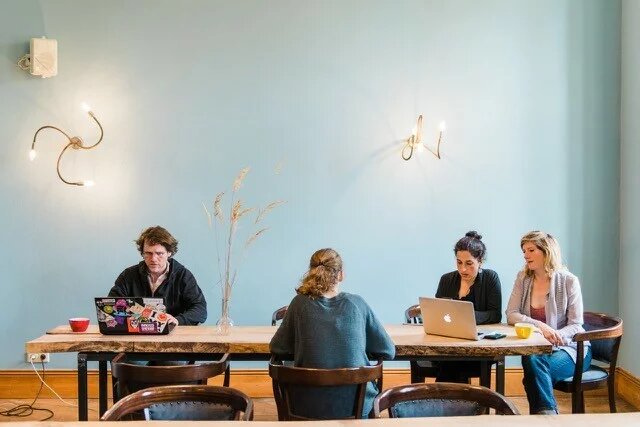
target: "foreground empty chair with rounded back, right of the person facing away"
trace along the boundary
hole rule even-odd
[[[403,385],[383,391],[373,401],[376,418],[384,411],[389,412],[389,418],[407,418],[482,415],[489,409],[494,409],[497,415],[520,414],[501,394],[469,384]]]

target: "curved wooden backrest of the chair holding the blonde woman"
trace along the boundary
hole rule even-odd
[[[592,358],[610,363],[615,367],[623,334],[622,319],[586,311],[583,327],[587,336],[577,334],[576,337],[582,336],[591,342]]]

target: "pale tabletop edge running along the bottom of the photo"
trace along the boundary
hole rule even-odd
[[[492,427],[564,427],[569,424],[580,427],[602,427],[615,425],[616,427],[631,427],[640,425],[640,412],[622,414],[567,414],[567,415],[480,415],[475,417],[438,417],[429,418],[382,418],[376,420],[338,420],[338,421],[287,421],[287,427],[451,427],[451,426],[487,426]],[[3,424],[7,427],[122,427],[136,425],[138,427],[166,427],[166,421],[21,421]],[[181,421],[180,425],[188,427],[237,427],[237,421]],[[278,421],[253,421],[249,425],[256,427],[281,427]]]

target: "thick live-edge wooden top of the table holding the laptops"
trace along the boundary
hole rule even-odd
[[[97,325],[86,332],[71,332],[69,326],[53,328],[25,344],[27,353],[137,352],[137,353],[251,353],[269,354],[269,341],[276,326],[234,326],[228,335],[215,326],[177,326],[168,335],[101,335]],[[481,332],[507,335],[498,340],[471,341],[426,335],[421,325],[387,325],[396,345],[396,357],[409,356],[518,356],[550,353],[551,344],[540,333],[527,339],[515,335],[513,327],[495,324],[478,326]]]

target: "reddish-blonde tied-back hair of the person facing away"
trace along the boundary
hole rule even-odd
[[[339,282],[342,272],[342,258],[338,252],[326,248],[317,250],[309,260],[309,271],[300,281],[296,292],[312,298],[321,297]]]

